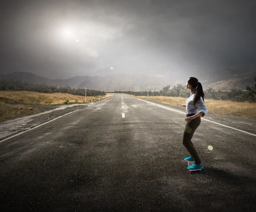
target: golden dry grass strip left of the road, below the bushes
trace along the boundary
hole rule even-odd
[[[100,100],[107,99],[111,94],[100,96]],[[85,96],[75,96],[67,93],[37,93],[29,91],[0,91],[0,99],[5,102],[19,102],[26,105],[62,105],[68,103],[84,103]],[[99,96],[87,96],[86,102],[99,101]]]

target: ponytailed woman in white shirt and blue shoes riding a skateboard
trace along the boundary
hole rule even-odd
[[[195,130],[201,123],[201,116],[203,117],[208,113],[208,109],[204,104],[204,92],[203,87],[198,79],[195,77],[189,77],[186,82],[186,88],[190,90],[190,96],[186,100],[186,105],[180,105],[186,107],[186,125],[183,133],[183,145],[186,147],[191,156],[184,158],[185,161],[195,161],[195,164],[189,166],[188,169],[202,169],[203,164],[198,156],[197,151],[191,141]]]

